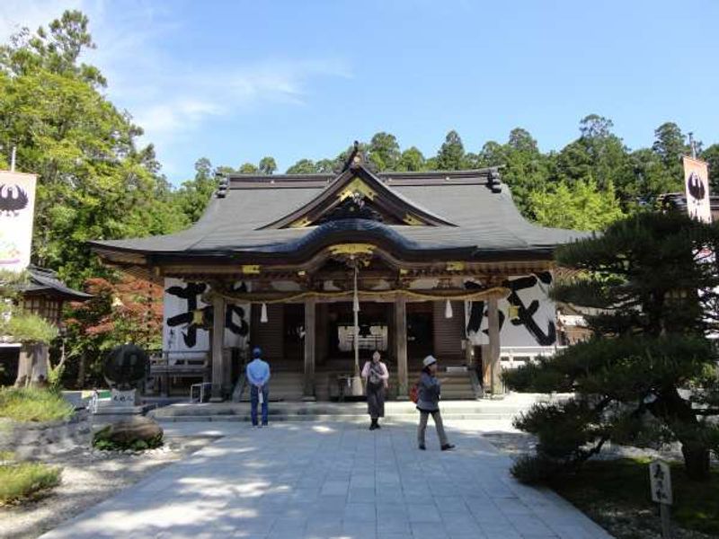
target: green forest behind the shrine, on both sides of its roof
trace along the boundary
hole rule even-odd
[[[80,61],[93,48],[87,17],[68,11],[48,28],[23,30],[0,46],[0,168],[17,147],[18,168],[39,175],[33,262],[58,270],[75,287],[106,276],[89,252],[91,239],[169,234],[191,225],[216,189],[217,173],[278,172],[271,156],[237,168],[201,157],[193,175],[173,187],[152,145],[139,146],[142,128],[106,96],[107,81]],[[439,142],[439,141],[438,141]],[[504,142],[476,151],[449,131],[436,155],[400,146],[379,132],[361,148],[377,171],[473,169],[501,165],[520,211],[541,225],[598,230],[618,218],[652,208],[661,193],[682,188],[680,156],[686,134],[667,121],[654,130],[651,147],[630,149],[610,119],[581,119],[578,137],[543,153],[523,128]],[[698,145],[719,190],[719,144]],[[339,155],[300,159],[287,172],[333,172]]]

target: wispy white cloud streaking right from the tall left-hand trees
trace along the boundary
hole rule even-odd
[[[0,40],[21,26],[35,30],[65,9],[80,9],[90,19],[97,49],[83,60],[98,66],[108,79],[112,102],[129,110],[155,144],[163,160],[173,144],[196,135],[213,119],[232,118],[262,105],[302,106],[312,80],[351,76],[334,59],[265,58],[244,65],[189,65],[164,48],[164,41],[182,31],[175,13],[151,0],[2,0]]]

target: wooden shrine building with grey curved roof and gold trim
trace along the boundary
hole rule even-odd
[[[190,229],[92,247],[186,302],[169,339],[209,326],[214,400],[235,382],[228,329],[294,369],[307,399],[326,393],[320,373],[379,349],[401,398],[430,353],[476,361],[499,392],[502,324],[554,344],[554,311],[538,320],[520,292],[549,286],[555,247],[582,235],[528,223],[497,168],[376,173],[355,150],[337,174],[231,174]]]

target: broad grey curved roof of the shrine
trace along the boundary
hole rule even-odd
[[[316,225],[337,206],[355,178],[377,193],[370,202],[378,210],[396,219],[412,212],[420,222]],[[297,222],[303,218],[310,221]],[[462,252],[477,260],[546,260],[558,244],[586,235],[529,223],[519,214],[497,169],[373,174],[360,166],[339,176],[230,175],[191,228],[163,236],[96,241],[91,246],[110,261],[128,253],[155,263],[178,256],[237,261],[312,250],[331,238],[361,242],[371,236],[418,257]]]

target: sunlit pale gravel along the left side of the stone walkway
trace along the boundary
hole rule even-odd
[[[212,443],[215,437],[167,437],[165,445],[139,454],[75,449],[43,462],[62,466],[62,482],[48,495],[0,508],[0,537],[39,537],[86,508],[111,498],[147,473]]]

